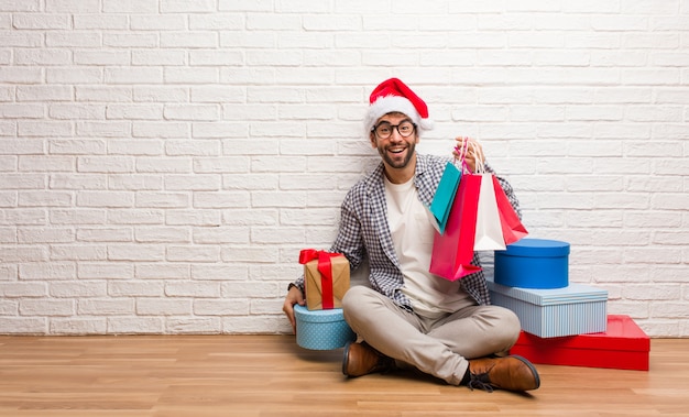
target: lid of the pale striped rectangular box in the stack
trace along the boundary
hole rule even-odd
[[[535,289],[508,287],[486,281],[490,290],[511,298],[537,306],[553,306],[561,304],[590,303],[608,300],[608,290],[583,284],[569,284],[564,288]]]

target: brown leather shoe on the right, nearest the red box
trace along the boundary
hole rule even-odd
[[[469,361],[470,388],[492,392],[529,391],[540,386],[536,367],[522,356],[482,358]]]

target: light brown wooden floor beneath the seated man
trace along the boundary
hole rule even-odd
[[[0,416],[688,416],[689,339],[650,371],[538,365],[531,395],[408,373],[348,380],[292,336],[0,337]]]

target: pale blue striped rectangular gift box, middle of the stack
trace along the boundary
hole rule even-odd
[[[539,338],[604,332],[608,290],[583,284],[565,288],[507,287],[488,281],[491,301],[514,311],[522,330]]]

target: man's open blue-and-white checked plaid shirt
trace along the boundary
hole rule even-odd
[[[414,185],[424,205],[430,206],[448,161],[450,160],[441,156],[416,155]],[[488,165],[485,168],[493,173]],[[521,215],[512,187],[506,180],[500,177],[497,179],[510,202]],[[341,206],[340,228],[329,251],[347,256],[352,271],[368,256],[371,286],[404,308],[412,309],[411,300],[402,293],[404,276],[400,270],[400,261],[387,226],[382,162],[375,171],[354,185],[344,197]],[[480,266],[477,254],[472,263]],[[295,284],[303,289],[304,277],[299,277]],[[490,304],[490,295],[482,272],[463,277],[461,286],[479,305]]]

